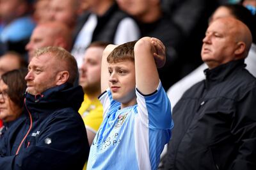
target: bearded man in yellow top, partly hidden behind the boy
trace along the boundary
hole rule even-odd
[[[84,120],[90,146],[102,122],[103,107],[98,97],[101,93],[101,58],[107,45],[104,42],[91,43],[86,49],[79,72],[79,85],[84,90],[84,101],[78,112]]]

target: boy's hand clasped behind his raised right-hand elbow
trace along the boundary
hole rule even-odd
[[[163,43],[157,38],[150,38],[152,45],[154,45],[156,52],[154,52],[153,56],[156,61],[157,68],[161,68],[164,66],[166,57],[165,57],[165,47]]]

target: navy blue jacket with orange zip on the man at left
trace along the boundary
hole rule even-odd
[[[81,86],[69,84],[26,93],[26,111],[0,140],[0,169],[83,169],[90,147],[82,102]]]

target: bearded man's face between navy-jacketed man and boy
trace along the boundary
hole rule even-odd
[[[80,68],[79,84],[85,93],[100,91],[100,68],[102,47],[89,47],[84,55],[84,63]]]

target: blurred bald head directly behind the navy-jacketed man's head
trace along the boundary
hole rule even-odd
[[[71,41],[71,31],[62,22],[50,21],[38,24],[31,35],[29,43],[26,45],[29,56],[28,61],[31,61],[35,50],[40,47],[56,46],[69,51]]]

